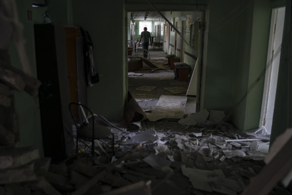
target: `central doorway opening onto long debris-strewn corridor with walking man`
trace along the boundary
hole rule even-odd
[[[145,12],[133,12],[135,15],[136,23],[135,25],[140,28],[141,21],[138,20],[142,17],[145,17]],[[171,25],[162,17],[162,16],[155,16],[155,13],[148,12],[148,16],[146,19],[147,21],[152,21],[153,26],[153,35],[155,35],[155,41],[163,40],[164,47],[162,48],[156,48],[148,50],[148,54],[150,58],[147,59],[140,59],[142,57],[142,53],[140,53],[141,45],[137,47],[136,54],[137,56],[127,56],[128,58],[128,76],[127,76],[127,86],[128,90],[131,93],[132,97],[137,101],[138,105],[144,110],[144,112],[148,113],[148,115],[155,114],[155,112],[160,109],[158,104],[158,101],[161,96],[167,96],[168,104],[164,105],[163,108],[168,107],[174,103],[177,98],[183,99],[180,102],[181,105],[177,111],[177,113],[180,113],[183,109],[184,114],[193,114],[196,112],[196,97],[194,96],[188,96],[186,97],[186,92],[189,87],[189,81],[191,73],[187,74],[187,76],[181,74],[182,71],[177,71],[179,76],[176,76],[174,73],[173,66],[170,66],[171,60],[169,60],[166,57],[167,54],[172,53],[173,55],[177,55],[177,57],[180,57],[180,48],[183,48],[183,59],[186,58],[186,61],[188,62],[188,65],[192,68],[194,68],[196,64],[196,60],[192,56],[197,56],[198,54],[198,48],[195,49],[194,45],[197,45],[199,47],[199,39],[196,37],[196,35],[193,33],[190,35],[189,27],[187,26],[188,19],[193,17],[194,20],[197,20],[198,18],[201,18],[202,12],[201,11],[189,11],[189,12],[164,12],[163,13],[165,17],[172,21],[172,24],[176,29],[179,29],[179,32],[183,34],[184,39],[186,37],[193,36],[193,47],[187,47],[185,48],[185,45],[188,43],[185,43],[185,41],[182,41],[183,46],[180,44],[181,36],[179,35],[174,28],[171,28]],[[130,16],[130,14],[128,14]],[[153,19],[151,16],[155,16]],[[187,17],[188,16],[188,17]],[[187,19],[188,18],[188,19]],[[139,22],[138,22],[139,21]],[[145,22],[145,19],[143,20]],[[162,28],[160,25],[163,25]],[[183,25],[183,27],[182,27]],[[142,26],[144,27],[144,26]],[[142,28],[141,27],[141,28]],[[198,29],[199,30],[199,29]],[[141,31],[141,30],[140,30]],[[139,32],[136,32],[136,35],[138,35]],[[137,37],[138,40],[139,37]],[[162,44],[163,45],[163,44]],[[188,53],[189,55],[185,53]],[[151,64],[152,63],[152,64]],[[154,65],[154,66],[153,66]],[[193,78],[193,80],[197,80]],[[194,86],[194,85],[192,85]],[[195,85],[196,86],[196,85]],[[194,87],[193,87],[194,88]],[[164,100],[161,100],[164,101]],[[173,101],[173,102],[172,102]],[[176,102],[177,104],[178,102]],[[158,105],[158,107],[156,107]],[[156,108],[155,108],[156,107]],[[155,111],[156,110],[156,111]],[[155,112],[154,112],[155,111]],[[153,113],[152,113],[153,112]],[[167,114],[168,112],[165,112],[164,114]],[[182,115],[179,115],[179,118]]]

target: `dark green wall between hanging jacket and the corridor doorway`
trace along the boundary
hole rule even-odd
[[[95,44],[93,56],[100,81],[88,87],[88,106],[94,113],[109,120],[119,120],[123,116],[127,97],[127,14],[124,3],[118,0],[89,0],[86,3],[73,1],[72,8],[73,24],[87,30]],[[114,14],[109,14],[107,8]],[[109,21],[115,21],[115,24]]]

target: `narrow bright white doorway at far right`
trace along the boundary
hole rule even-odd
[[[285,7],[272,10],[269,48],[267,54],[267,69],[265,76],[264,93],[262,98],[262,111],[259,126],[264,126],[268,134],[271,134],[273,114],[278,81],[278,71],[283,38]]]

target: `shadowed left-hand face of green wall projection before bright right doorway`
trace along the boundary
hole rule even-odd
[[[249,2],[235,2],[235,5],[241,3],[238,10],[245,9],[238,17],[234,19],[236,23],[235,33],[235,48],[232,53],[234,64],[233,70],[233,85],[232,85],[232,109],[235,112],[232,114],[232,122],[240,129],[245,128],[245,113],[246,113],[246,98],[238,105],[238,101],[244,96],[248,87],[249,66],[251,55],[251,41],[252,41],[252,22],[253,22],[253,6]],[[238,10],[236,13],[238,13]],[[232,61],[231,61],[232,63]],[[228,111],[227,111],[228,112]],[[253,117],[255,115],[252,115]],[[259,123],[259,122],[258,122]],[[258,127],[257,124],[256,127]]]

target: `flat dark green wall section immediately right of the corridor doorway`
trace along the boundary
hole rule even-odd
[[[211,0],[207,5],[204,29],[202,88],[200,109],[230,111],[232,106],[232,80],[236,42],[237,21],[220,21],[230,13],[238,1]],[[222,26],[224,25],[224,26]]]

